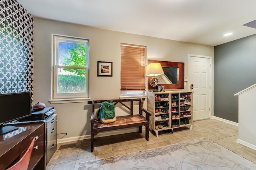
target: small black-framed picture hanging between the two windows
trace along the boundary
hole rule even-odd
[[[113,62],[97,61],[97,76],[112,77]]]

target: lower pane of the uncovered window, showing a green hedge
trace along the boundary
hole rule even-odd
[[[58,93],[86,92],[86,69],[59,68]]]

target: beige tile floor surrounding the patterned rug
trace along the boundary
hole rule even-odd
[[[256,163],[256,150],[236,143],[238,138],[237,126],[216,119],[207,119],[194,121],[191,131],[187,127],[182,127],[174,129],[173,132],[173,134],[168,134],[161,131],[159,137],[156,137],[154,132],[150,133],[149,141],[144,138],[145,131],[142,134],[136,132],[100,137],[96,138],[94,142],[93,152],[90,152],[90,139],[69,142],[76,143],[76,147],[59,150],[60,145],[69,144],[61,143],[58,144],[58,148],[46,166],[46,170],[77,170],[79,162],[162,147],[200,137],[206,137]]]

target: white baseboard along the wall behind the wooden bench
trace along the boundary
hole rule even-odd
[[[142,130],[144,130],[144,128],[142,128]],[[94,136],[94,138],[105,137],[105,136],[110,136],[110,135],[120,135],[120,134],[124,134],[124,133],[132,133],[132,132],[138,132],[138,131],[139,131],[138,127],[132,127],[132,128],[127,128],[127,129],[120,129],[118,131],[107,131],[107,132],[98,133],[98,135]],[[80,140],[90,139],[90,138],[91,138],[91,135],[83,135],[83,136],[77,136],[77,137],[57,139],[57,143],[59,144],[59,143],[80,141]]]

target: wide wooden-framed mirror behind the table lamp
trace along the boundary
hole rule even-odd
[[[174,78],[169,78],[170,81],[159,81],[158,86],[164,85],[165,89],[184,89],[184,63],[148,60],[148,64],[150,63],[160,63],[164,72],[165,70],[173,70],[171,72],[172,74],[174,74]],[[164,69],[164,67],[167,67],[169,69]],[[149,83],[150,78],[151,77],[148,77],[148,90],[153,89],[153,87],[150,86]]]

